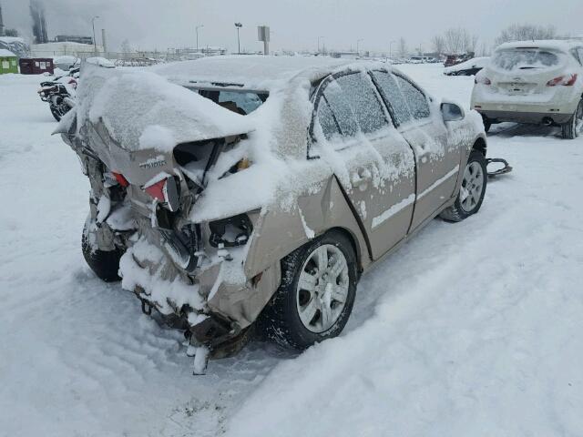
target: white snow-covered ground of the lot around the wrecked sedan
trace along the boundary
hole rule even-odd
[[[403,66],[465,107],[473,77]],[[0,436],[583,435],[583,138],[493,127],[480,213],[434,220],[301,355],[191,375],[180,334],[80,252],[88,183],[39,76],[0,76]]]

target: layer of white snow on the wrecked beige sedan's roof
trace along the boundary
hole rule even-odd
[[[152,71],[171,82],[187,85],[231,84],[270,91],[293,77],[317,80],[342,66],[372,63],[320,56],[210,56],[155,66]]]

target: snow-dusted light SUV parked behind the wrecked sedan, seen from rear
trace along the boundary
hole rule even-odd
[[[583,133],[583,40],[506,43],[476,75],[471,107],[493,123],[562,127],[564,138]]]

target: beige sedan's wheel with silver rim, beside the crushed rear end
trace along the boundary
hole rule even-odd
[[[353,244],[332,230],[281,261],[281,286],[261,314],[267,338],[302,351],[337,336],[356,293]]]

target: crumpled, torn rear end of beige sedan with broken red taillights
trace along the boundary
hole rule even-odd
[[[218,178],[249,167],[237,150],[246,134],[181,143],[171,153],[122,150],[103,126],[89,129],[89,137],[107,147],[77,148],[92,186],[87,252],[123,253],[122,287],[136,294],[144,313],[154,309],[158,320],[185,330],[189,353],[219,358],[239,351],[247,326],[210,310],[208,300],[220,287],[225,261],[237,259],[245,286],[243,252],[252,221],[247,214],[203,223],[189,216],[221,156],[233,155],[234,163]]]

